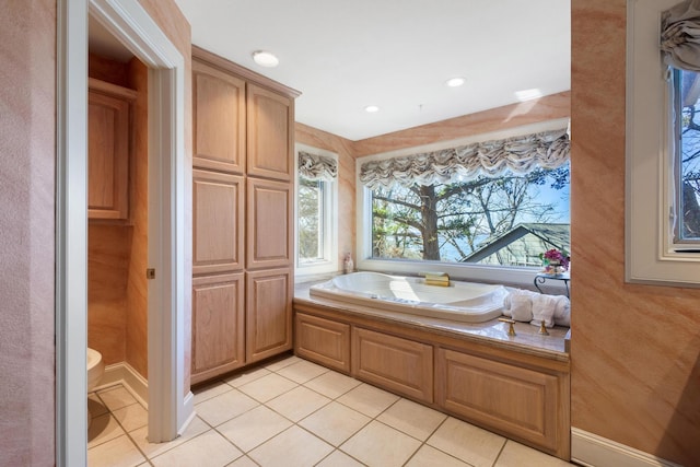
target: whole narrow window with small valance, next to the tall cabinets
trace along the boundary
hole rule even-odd
[[[296,273],[338,269],[337,155],[296,144]]]

